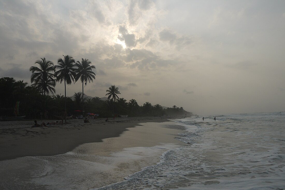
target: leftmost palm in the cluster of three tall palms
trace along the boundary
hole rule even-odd
[[[41,59],[41,60],[40,60]],[[30,71],[32,71],[31,75],[31,86],[34,86],[38,89],[41,94],[52,94],[55,93],[55,85],[56,85],[56,75],[51,73],[55,72],[55,66],[50,60],[46,60],[46,58],[40,58],[35,62],[35,64],[39,64],[40,68],[36,66],[30,67]]]

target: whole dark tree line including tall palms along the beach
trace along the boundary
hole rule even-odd
[[[85,113],[96,113],[100,117],[113,117],[118,114],[129,117],[192,114],[182,107],[163,109],[161,105],[152,106],[149,102],[139,106],[135,99],[127,102],[124,98],[119,98],[121,93],[115,85],[106,90],[108,99],[105,101],[98,97],[84,98],[84,83],[86,85],[95,79],[95,73],[92,71],[95,66],[91,65],[88,59],[75,61],[71,56],[65,55],[63,59],[58,58],[58,65],[46,58],[40,58],[35,64],[38,66],[30,67],[30,86],[23,80],[16,81],[10,77],[0,79],[0,108],[13,108],[15,103],[20,101],[19,113],[26,115],[27,119],[40,118],[40,113],[44,111],[48,111],[49,118],[53,118],[54,115],[59,115],[63,108],[73,115],[80,113],[75,110],[85,110]],[[66,84],[76,83],[79,79],[82,82],[82,92],[74,92],[74,100],[66,97]],[[55,95],[54,87],[57,82],[64,82],[64,96]]]

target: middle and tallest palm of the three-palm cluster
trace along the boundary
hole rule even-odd
[[[56,69],[59,69],[54,74],[57,75],[58,81],[62,83],[64,81],[64,97],[65,97],[65,110],[66,110],[66,84],[70,85],[71,82],[74,82],[75,77],[75,60],[73,57],[70,57],[69,55],[63,55],[64,59],[58,58],[56,65]]]

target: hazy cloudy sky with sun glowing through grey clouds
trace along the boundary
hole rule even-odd
[[[88,96],[115,85],[198,115],[285,111],[282,0],[0,0],[0,77],[30,85],[36,60],[63,55],[96,67]]]

